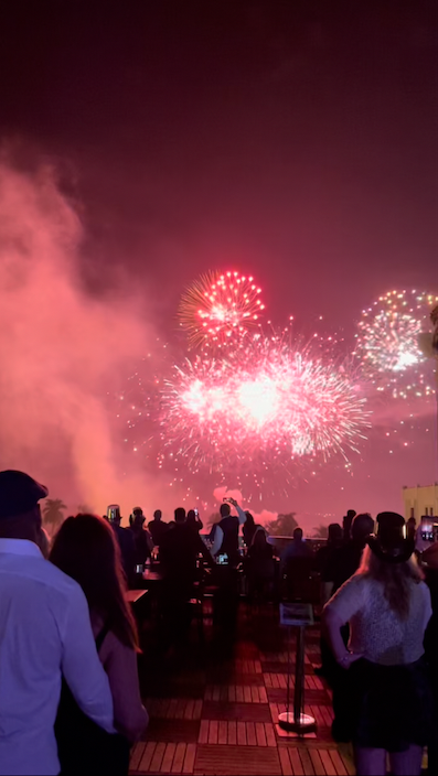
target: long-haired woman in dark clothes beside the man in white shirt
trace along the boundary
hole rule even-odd
[[[94,764],[98,770],[90,767],[86,735],[75,730],[85,724],[84,720],[81,723],[82,712],[64,688],[56,723],[62,773],[128,773],[129,746],[146,730],[148,713],[140,698],[137,628],[125,597],[117,540],[108,522],[96,515],[68,517],[53,541],[50,560],[78,582],[87,599],[96,646],[113,693],[114,723],[120,734],[116,748],[125,763],[116,766],[113,762],[110,772],[104,770],[102,763]]]

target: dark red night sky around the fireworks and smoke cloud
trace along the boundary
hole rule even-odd
[[[237,269],[276,325],[349,338],[388,290],[438,292],[432,3],[14,0],[0,30],[1,141],[56,169],[90,297],[122,273],[172,340],[183,288]],[[402,485],[437,478],[434,403],[412,412],[381,409],[353,476],[260,508],[400,509]]]

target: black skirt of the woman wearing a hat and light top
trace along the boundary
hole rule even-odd
[[[436,734],[436,713],[425,661],[381,666],[357,660],[351,678],[351,739],[355,746],[405,752]]]

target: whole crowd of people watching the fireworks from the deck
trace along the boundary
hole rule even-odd
[[[318,573],[318,671],[333,692],[334,739],[353,743],[363,776],[386,774],[387,756],[393,774],[419,774],[426,745],[435,773],[438,542],[419,563],[413,524],[382,513],[374,535],[373,518],[350,510],[316,553],[297,527],[277,558],[265,528],[232,498],[207,538],[195,509],[177,508],[170,522],[158,509],[147,524],[136,507],[124,528],[113,505],[105,517],[68,517],[51,540],[46,496],[29,475],[0,472],[0,774],[128,773],[148,713],[127,589],[154,561],[163,622],[179,636],[193,586],[209,574],[229,634],[239,568],[250,602],[293,597]]]

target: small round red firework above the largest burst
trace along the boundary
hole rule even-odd
[[[181,299],[180,325],[191,346],[224,347],[257,324],[265,305],[253,277],[202,276]]]

